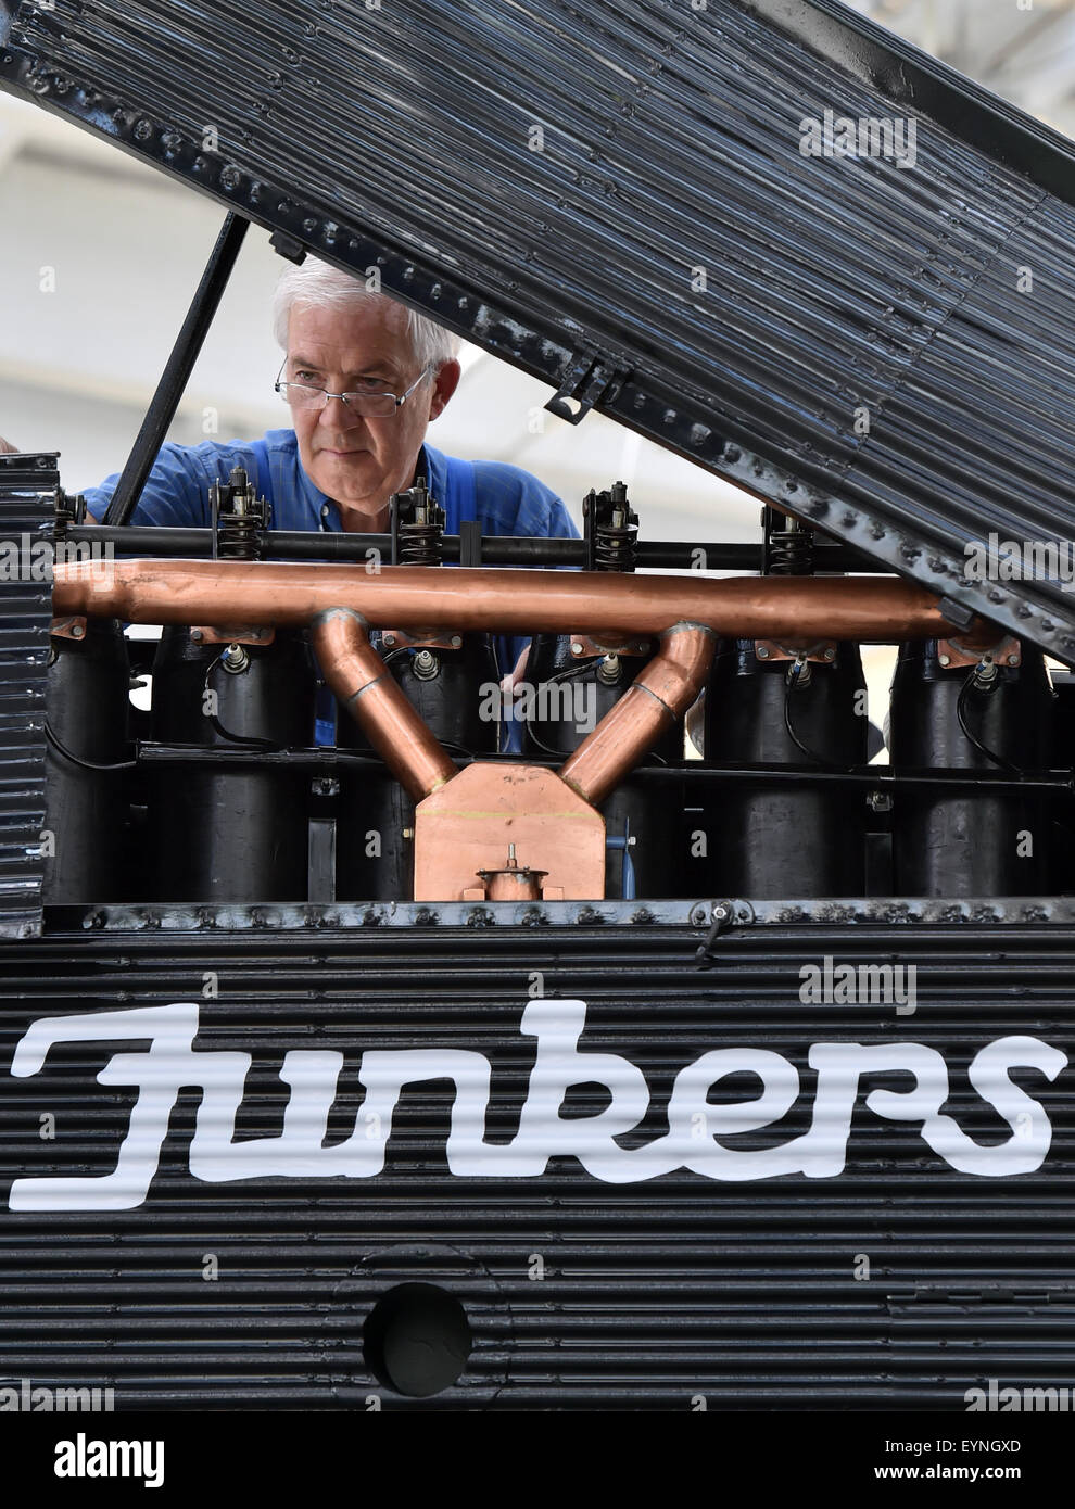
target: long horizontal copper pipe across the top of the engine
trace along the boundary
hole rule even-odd
[[[100,579],[98,579],[100,578]],[[867,644],[959,634],[936,593],[904,581],[740,576],[711,581],[568,572],[302,561],[95,561],[57,564],[53,611],[130,623],[306,625],[352,608],[371,628],[504,634],[651,634],[681,622],[737,638]],[[962,631],[962,632],[974,632]]]

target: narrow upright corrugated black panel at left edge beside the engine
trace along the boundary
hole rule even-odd
[[[41,931],[57,483],[54,454],[0,456],[0,937]]]

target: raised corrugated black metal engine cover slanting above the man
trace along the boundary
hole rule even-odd
[[[1070,143],[830,0],[57,0],[0,83],[1075,662],[963,575],[1075,530]]]

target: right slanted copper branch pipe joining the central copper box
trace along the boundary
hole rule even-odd
[[[560,780],[592,806],[619,786],[643,754],[687,712],[710,675],[717,637],[698,623],[676,623],[661,650],[615,708],[560,767]]]

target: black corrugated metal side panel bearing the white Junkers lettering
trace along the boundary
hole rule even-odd
[[[488,1138],[510,1141],[534,1040],[519,1031],[534,973],[548,997],[587,1002],[581,1050],[643,1070],[651,1108],[634,1148],[660,1136],[673,1076],[701,1053],[784,1055],[802,1076],[772,1130],[725,1139],[782,1144],[809,1124],[817,1043],[938,1050],[945,1112],[983,1147],[1012,1126],[966,1080],[971,1058],[1007,1035],[1075,1047],[1070,927],[904,924],[747,925],[699,972],[688,927],[329,930],[236,934],[57,934],[11,943],[3,1031],[71,1011],[189,1000],[201,1053],[252,1055],[237,1136],[275,1136],[293,1049],[346,1056],[329,1141],[361,1126],[359,1053],[480,1052],[492,1065]],[[800,967],[900,958],[918,969],[910,1016],[882,1005],[803,1005]],[[207,972],[219,996],[205,999]],[[20,1176],[107,1174],[133,1089],[98,1083],[118,1052],[54,1047],[6,1079],[3,1163]],[[5,1065],[9,1062],[5,1053]],[[5,1068],[6,1073],[6,1068]],[[599,1080],[599,1071],[595,1073]],[[172,1112],[142,1206],[0,1215],[0,1375],[112,1385],[116,1408],[408,1406],[362,1358],[373,1304],[406,1278],[457,1295],[474,1351],[460,1381],[424,1406],[963,1408],[989,1378],[1019,1387],[1075,1379],[1072,1070],[1052,1083],[1013,1070],[1052,1123],[1034,1172],[957,1172],[916,1121],[883,1120],[867,1091],[913,1088],[871,1073],[852,1117],[847,1165],[826,1179],[720,1182],[687,1169],[611,1183],[575,1157],[541,1177],[460,1177],[445,1162],[451,1086],[405,1091],[382,1174],[207,1183],[189,1172],[201,1091]],[[710,1100],[752,1099],[749,1073]],[[593,1085],[566,1115],[604,1109]],[[54,1141],[41,1118],[56,1117]],[[1015,1139],[1021,1133],[1016,1126]],[[6,1203],[6,1201],[5,1201]],[[219,1277],[205,1280],[213,1254]],[[868,1277],[862,1277],[862,1259]],[[542,1260],[544,1278],[531,1277]],[[858,1277],[856,1277],[858,1274]]]

